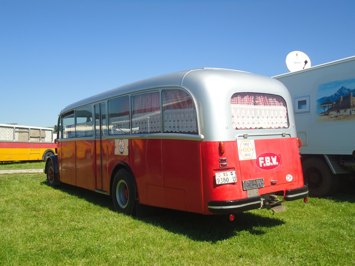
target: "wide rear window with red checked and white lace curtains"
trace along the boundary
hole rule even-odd
[[[285,100],[264,93],[235,93],[230,98],[234,129],[288,128]]]

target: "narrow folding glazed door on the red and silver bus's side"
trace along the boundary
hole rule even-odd
[[[105,190],[103,182],[103,144],[102,139],[106,133],[106,104],[97,104],[95,109],[95,165],[96,189]]]

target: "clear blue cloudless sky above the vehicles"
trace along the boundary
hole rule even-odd
[[[0,123],[53,126],[66,105],[200,67],[266,76],[286,55],[355,55],[355,1],[0,0]]]

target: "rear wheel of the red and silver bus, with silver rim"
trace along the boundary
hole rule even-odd
[[[112,199],[115,210],[127,215],[136,214],[136,192],[132,177],[125,169],[119,170],[113,179]]]

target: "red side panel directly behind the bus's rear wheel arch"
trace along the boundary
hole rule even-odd
[[[160,207],[164,203],[163,193],[159,193],[163,187],[161,140],[131,139],[129,153],[139,203]]]

